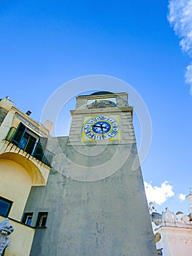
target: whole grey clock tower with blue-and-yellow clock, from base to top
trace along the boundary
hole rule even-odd
[[[31,256],[155,256],[128,94],[79,96],[71,114],[69,137],[49,140],[47,186],[25,209],[48,214]]]

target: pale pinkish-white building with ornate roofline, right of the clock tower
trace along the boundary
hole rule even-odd
[[[192,253],[192,190],[186,197],[189,203],[189,214],[181,211],[176,214],[166,208],[158,214],[153,203],[149,204],[149,211],[155,236],[158,255],[191,256]]]

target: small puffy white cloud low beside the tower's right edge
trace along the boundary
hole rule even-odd
[[[149,202],[161,205],[161,203],[164,203],[169,197],[172,197],[174,195],[174,192],[172,190],[173,188],[170,184],[168,184],[168,181],[164,181],[164,183],[161,184],[161,187],[153,187],[146,181],[144,182],[144,184],[147,200]]]

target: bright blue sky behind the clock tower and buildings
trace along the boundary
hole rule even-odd
[[[109,75],[126,81],[152,121],[142,164],[148,199],[160,212],[168,206],[188,214],[179,197],[192,187],[191,2],[1,1],[1,97],[9,95],[39,121],[47,99],[69,80]],[[70,108],[74,99],[64,110]],[[64,118],[68,127],[69,114]],[[137,118],[135,126],[139,144]]]

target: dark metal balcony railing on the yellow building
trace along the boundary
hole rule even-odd
[[[41,140],[39,143],[32,136],[25,138],[25,133],[16,129],[15,127],[11,127],[9,129],[5,140],[30,154],[32,157],[35,157],[45,165],[49,167],[51,166],[54,154],[51,151],[43,148],[43,143],[41,143]]]

